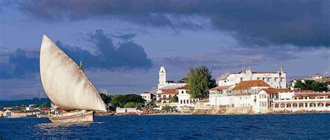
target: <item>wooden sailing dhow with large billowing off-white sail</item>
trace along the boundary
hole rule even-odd
[[[100,94],[81,67],[43,35],[40,49],[42,86],[63,112],[50,114],[53,123],[93,121],[93,111],[106,112]]]

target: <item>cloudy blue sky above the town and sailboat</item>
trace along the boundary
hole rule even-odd
[[[42,35],[77,63],[99,91],[139,94],[207,66],[214,78],[242,70],[288,80],[330,71],[330,2],[0,1],[0,100],[46,97]]]

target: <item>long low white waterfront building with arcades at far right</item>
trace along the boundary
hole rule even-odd
[[[273,111],[330,111],[330,92],[279,92],[272,104]]]

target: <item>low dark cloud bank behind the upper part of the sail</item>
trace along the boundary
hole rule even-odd
[[[152,67],[152,60],[139,44],[127,41],[120,42],[118,47],[114,46],[109,35],[104,34],[103,30],[95,30],[89,33],[88,37],[93,47],[97,49],[96,55],[80,47],[65,45],[60,41],[56,44],[78,64],[80,61],[84,62],[84,67],[88,69],[132,70]],[[0,67],[1,79],[21,78],[28,73],[36,73],[39,71],[39,52],[17,49],[8,55],[7,62],[0,63]]]

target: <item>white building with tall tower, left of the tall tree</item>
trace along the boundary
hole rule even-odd
[[[156,91],[156,98],[157,101],[160,101],[161,94],[165,89],[177,89],[178,87],[183,87],[184,85],[187,85],[182,80],[179,80],[178,82],[174,82],[173,80],[166,80],[166,70],[165,67],[160,67],[159,69],[159,79],[158,79],[158,86]]]

